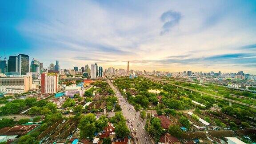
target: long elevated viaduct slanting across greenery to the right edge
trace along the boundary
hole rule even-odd
[[[187,87],[183,87],[183,86],[180,86],[180,85],[176,85],[176,84],[172,84],[168,81],[163,81],[163,79],[161,78],[157,78],[157,77],[153,77],[153,76],[144,76],[145,78],[148,78],[152,81],[155,81],[155,82],[158,82],[158,83],[161,83],[161,84],[171,84],[177,88],[183,88],[183,89],[186,89],[186,90],[189,90],[191,92],[198,92],[200,94],[204,94],[204,95],[208,95],[208,96],[213,96],[215,98],[218,98],[218,99],[222,99],[222,100],[227,100],[230,102],[230,105],[231,105],[231,102],[232,103],[236,103],[236,104],[241,104],[241,105],[245,105],[245,106],[248,106],[248,107],[251,107],[251,108],[256,108],[255,105],[252,105],[252,104],[246,104],[246,103],[243,103],[243,102],[240,102],[240,101],[236,101],[236,100],[231,100],[231,99],[228,99],[228,98],[225,98],[225,97],[222,97],[222,96],[216,96],[216,95],[213,95],[213,94],[210,94],[210,93],[207,93],[207,92],[201,92],[199,90],[196,90],[196,89],[192,89],[192,88],[187,88]]]

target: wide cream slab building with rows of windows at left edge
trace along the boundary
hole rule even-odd
[[[24,93],[32,88],[32,76],[0,77],[0,92]]]

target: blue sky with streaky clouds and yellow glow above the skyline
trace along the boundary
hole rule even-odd
[[[256,74],[255,0],[1,0],[0,55]]]

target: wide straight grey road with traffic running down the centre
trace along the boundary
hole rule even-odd
[[[137,132],[136,132],[136,137],[138,138],[137,143],[138,144],[153,144],[152,141],[149,139],[148,133],[144,129],[146,120],[144,120],[144,122],[142,122],[140,120],[140,112],[135,111],[132,104],[129,104],[127,102],[127,99],[124,98],[120,94],[119,90],[110,82],[110,80],[107,80],[107,82],[111,86],[111,88],[114,90],[114,92],[116,93],[119,104],[123,111],[123,115],[127,120],[126,124],[128,125],[128,128],[130,129],[130,124],[132,124],[132,128],[134,128],[135,131],[137,130]],[[128,120],[130,121],[129,123],[128,123]],[[138,122],[140,124],[138,124]]]

